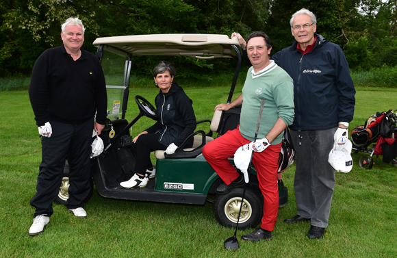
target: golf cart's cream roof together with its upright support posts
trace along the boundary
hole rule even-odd
[[[217,34],[151,34],[116,36],[97,38],[93,42],[97,46],[97,57],[101,61],[103,50],[124,55],[125,69],[123,87],[122,117],[125,118],[129,96],[129,79],[131,75],[133,55],[176,55],[189,56],[197,59],[233,58],[237,60],[237,66],[227,103],[231,103],[235,84],[237,83],[242,63],[242,49],[238,39],[229,39],[226,35]]]

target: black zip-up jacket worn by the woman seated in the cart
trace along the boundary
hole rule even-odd
[[[183,141],[196,129],[196,116],[192,103],[193,101],[189,99],[183,89],[177,83],[172,83],[167,93],[160,90],[155,97],[159,120],[144,131],[161,133],[159,142],[164,146],[168,146],[172,142],[181,146]],[[185,147],[191,147],[192,144],[193,141],[190,141]]]

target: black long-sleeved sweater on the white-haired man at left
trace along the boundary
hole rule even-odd
[[[81,48],[74,61],[64,46],[44,51],[31,73],[29,97],[36,124],[49,120],[79,124],[92,119],[105,124],[107,94],[99,60]]]

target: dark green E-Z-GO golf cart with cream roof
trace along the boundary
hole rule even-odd
[[[136,103],[128,103],[134,57],[179,55],[198,59],[233,58],[236,68],[226,100],[226,103],[230,103],[242,64],[237,38],[229,39],[226,35],[212,34],[156,34],[97,38],[93,44],[98,47],[96,55],[103,66],[108,94],[108,120],[100,135],[105,149],[101,155],[92,158],[92,179],[99,194],[105,198],[190,205],[204,205],[209,201],[214,203],[216,220],[225,227],[235,227],[240,205],[243,205],[239,229],[256,227],[263,215],[263,201],[255,168],[251,171],[244,203],[241,203],[243,188],[235,188],[227,194],[215,193],[222,181],[201,154],[207,142],[237,127],[240,107],[227,112],[217,110],[212,119],[198,121],[207,123],[208,129],[196,131],[190,136],[194,138],[192,148],[179,146],[173,155],[155,151],[155,180],[149,180],[146,188],[129,190],[120,187],[121,181],[128,180],[134,174],[136,161],[130,151],[133,139],[130,135],[131,127],[143,116],[157,119],[155,107],[144,96],[135,96]],[[121,79],[113,82],[116,73],[121,75]],[[218,103],[214,103],[214,106],[216,104]],[[139,109],[131,121],[125,119],[128,105],[138,105]],[[230,162],[233,164],[233,159]],[[279,187],[279,193],[280,206],[283,206],[287,203],[287,188]],[[66,203],[67,199],[66,164],[57,202]]]

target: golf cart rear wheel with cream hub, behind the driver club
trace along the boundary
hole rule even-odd
[[[214,200],[214,216],[225,227],[234,227],[237,224],[241,206],[243,189],[235,188],[227,194],[216,194]],[[246,189],[242,204],[238,229],[256,227],[263,216],[261,198],[251,190]]]

